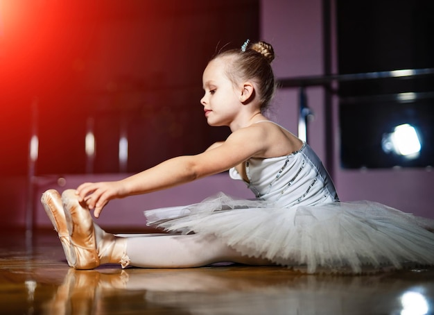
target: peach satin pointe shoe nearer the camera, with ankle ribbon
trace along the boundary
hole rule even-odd
[[[65,190],[62,202],[71,238],[73,268],[94,269],[107,263],[121,264],[122,268],[128,266],[125,238],[106,233],[96,225],[87,206],[78,201],[75,190]]]

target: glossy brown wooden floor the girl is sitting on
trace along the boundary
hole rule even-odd
[[[360,276],[241,265],[75,271],[54,231],[33,237],[3,231],[0,250],[0,314],[404,315],[434,309],[434,269]]]

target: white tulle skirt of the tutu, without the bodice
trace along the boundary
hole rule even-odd
[[[281,207],[220,193],[145,212],[148,225],[215,235],[239,253],[307,273],[434,264],[434,220],[371,201]]]

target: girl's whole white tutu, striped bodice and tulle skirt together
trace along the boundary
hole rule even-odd
[[[148,224],[214,235],[243,255],[309,273],[362,273],[434,265],[434,221],[371,201],[340,203],[308,144],[281,157],[251,157],[243,180],[254,201],[223,193],[196,205],[150,210]]]

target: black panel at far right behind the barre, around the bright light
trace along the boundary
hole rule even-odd
[[[434,68],[434,1],[337,1],[340,74]],[[414,101],[397,94],[416,92]],[[434,77],[340,83],[340,144],[344,168],[434,165]],[[384,133],[413,124],[419,158],[385,153]]]

